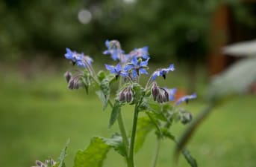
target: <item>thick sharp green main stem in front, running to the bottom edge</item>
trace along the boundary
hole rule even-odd
[[[131,143],[129,147],[129,164],[128,166],[134,167],[134,143],[135,143],[135,136],[136,136],[136,130],[137,130],[137,120],[138,120],[138,106],[139,104],[135,105],[134,108],[134,119],[132,123],[132,130],[131,130]]]

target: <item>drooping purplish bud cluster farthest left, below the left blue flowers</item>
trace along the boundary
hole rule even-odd
[[[81,74],[78,73],[77,75],[72,76],[72,73],[66,71],[66,73],[64,73],[64,77],[68,83],[69,89],[78,89],[83,87],[83,83],[81,82]]]

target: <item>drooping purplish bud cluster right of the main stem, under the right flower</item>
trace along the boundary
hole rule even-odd
[[[153,85],[152,85],[152,96],[154,101],[157,101],[160,103],[169,101],[168,92],[164,88],[158,87],[156,82],[153,82]]]

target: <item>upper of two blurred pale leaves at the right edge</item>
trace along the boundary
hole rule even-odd
[[[256,39],[228,45],[222,48],[222,53],[232,56],[256,56]]]

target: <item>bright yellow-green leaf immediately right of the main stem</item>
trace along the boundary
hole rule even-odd
[[[140,117],[137,122],[137,131],[135,138],[135,149],[137,152],[142,148],[143,143],[146,140],[147,134],[154,129],[154,123],[149,117]]]

